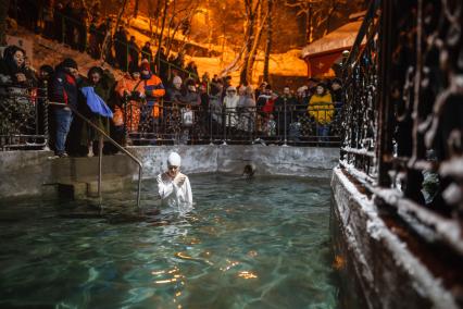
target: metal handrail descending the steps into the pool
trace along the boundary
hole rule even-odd
[[[118,150],[124,152],[128,158],[130,158],[134,162],[138,164],[138,191],[137,191],[137,208],[140,209],[140,194],[141,194],[141,175],[143,170],[143,164],[140,160],[138,160],[134,154],[132,154],[127,149],[122,147],[117,141],[112,139],[103,129],[99,128],[96,124],[93,124],[89,119],[87,119],[85,115],[83,115],[80,112],[77,111],[76,108],[74,108],[71,104],[60,103],[60,102],[48,102],[51,106],[59,106],[59,107],[66,107],[70,108],[73,113],[75,113],[78,118],[80,118],[83,121],[88,123],[92,128],[95,128],[100,134],[100,140],[98,145],[98,197],[101,197],[101,174],[102,174],[102,158],[103,158],[103,136],[112,144],[114,145]]]

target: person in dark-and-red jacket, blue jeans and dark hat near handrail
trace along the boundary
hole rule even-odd
[[[66,58],[57,66],[51,81],[50,101],[63,104],[54,107],[55,154],[67,157],[65,144],[73,121],[73,113],[68,106],[77,109],[77,62]]]

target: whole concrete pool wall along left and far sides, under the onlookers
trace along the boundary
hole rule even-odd
[[[256,175],[302,176],[329,180],[339,160],[337,148],[281,146],[133,146],[128,147],[143,162],[143,178],[154,178],[164,168],[170,151],[183,157],[187,174],[241,174],[246,164],[254,164]],[[290,163],[289,163],[290,162]],[[0,151],[0,199],[51,197],[59,184],[76,184],[76,190],[93,185],[98,157],[53,158],[52,151]],[[136,180],[137,165],[123,154],[103,158],[103,182]]]

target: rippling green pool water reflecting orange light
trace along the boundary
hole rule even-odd
[[[329,183],[190,176],[196,210],[132,223],[0,208],[0,307],[337,308]],[[155,203],[155,181],[143,184]],[[134,199],[105,195],[104,203]],[[158,222],[162,220],[162,224]]]

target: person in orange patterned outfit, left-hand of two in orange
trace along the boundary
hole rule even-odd
[[[145,99],[145,86],[141,83],[140,69],[138,66],[130,66],[130,73],[125,74],[124,77],[118,81],[115,91],[120,97],[120,102],[125,103],[115,106],[113,123],[116,129],[122,131],[124,127],[124,121],[126,121],[126,129],[128,133],[137,132],[138,124],[140,123],[140,104]],[[125,112],[127,114],[125,114]],[[123,144],[130,140],[123,141]]]

